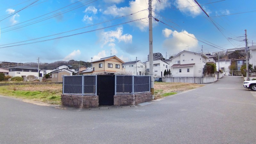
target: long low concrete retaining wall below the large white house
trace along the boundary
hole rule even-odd
[[[163,82],[183,82],[183,83],[196,83],[196,84],[206,84],[212,83],[217,80],[216,77],[166,77],[162,78]]]

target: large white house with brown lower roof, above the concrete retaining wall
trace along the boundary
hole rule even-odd
[[[172,60],[172,77],[201,77],[207,56],[183,50]]]

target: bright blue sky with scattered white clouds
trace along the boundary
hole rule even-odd
[[[255,0],[152,1],[153,52],[256,45]],[[159,21],[156,21],[158,19]],[[148,0],[0,0],[0,61],[147,61]],[[203,50],[202,50],[203,47]]]

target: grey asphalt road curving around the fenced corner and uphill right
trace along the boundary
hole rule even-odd
[[[145,106],[63,110],[0,96],[0,143],[256,143],[256,92],[243,79]]]

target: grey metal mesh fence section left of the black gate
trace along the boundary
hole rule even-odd
[[[97,76],[63,76],[63,94],[97,95]]]

